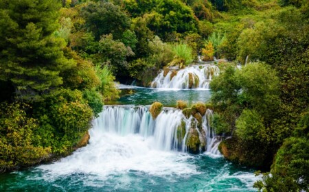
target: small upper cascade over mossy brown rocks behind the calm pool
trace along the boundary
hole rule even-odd
[[[179,71],[161,71],[152,81],[152,88],[205,88],[209,89],[209,82],[214,75],[218,75],[219,68],[215,65],[204,64],[186,67]]]

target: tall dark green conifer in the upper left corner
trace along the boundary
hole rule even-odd
[[[53,34],[59,8],[52,0],[0,2],[0,80],[11,82],[22,99],[60,86],[59,73],[76,64]]]

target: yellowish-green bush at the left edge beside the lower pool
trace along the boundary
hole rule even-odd
[[[35,165],[49,158],[50,147],[33,145],[38,121],[27,117],[28,106],[0,106],[0,172]]]

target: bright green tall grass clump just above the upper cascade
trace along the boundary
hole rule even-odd
[[[192,54],[192,48],[189,47],[187,44],[179,43],[173,45],[172,49],[176,54],[176,57],[185,60],[185,64],[190,64],[193,62],[194,57]]]

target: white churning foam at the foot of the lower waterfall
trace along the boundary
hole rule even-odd
[[[179,152],[162,152],[153,146],[153,138],[144,139],[137,134],[119,136],[91,130],[89,145],[71,156],[51,165],[41,165],[48,177],[68,176],[73,173],[95,175],[106,180],[113,174],[141,171],[154,176],[197,174],[196,167],[187,163],[192,158]]]

